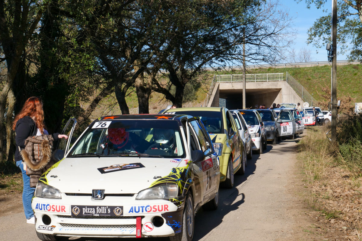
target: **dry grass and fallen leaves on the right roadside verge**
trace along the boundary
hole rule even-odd
[[[316,212],[315,219],[329,231],[331,240],[361,241],[362,177],[326,138],[328,128],[307,128],[299,142],[308,203]]]

